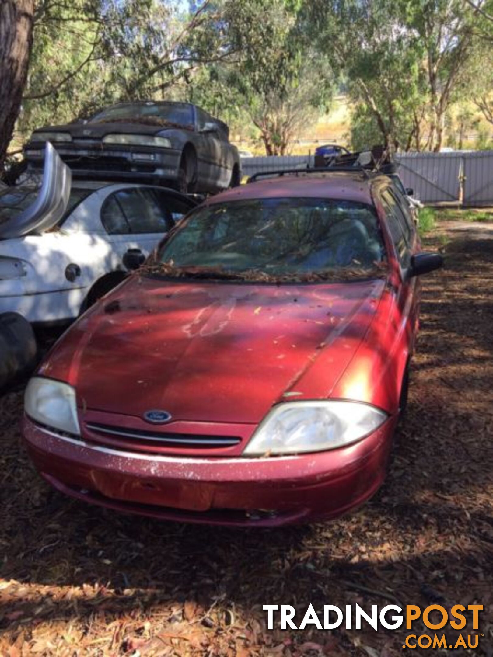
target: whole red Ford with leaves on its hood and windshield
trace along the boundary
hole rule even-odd
[[[297,171],[214,196],[62,336],[24,437],[60,491],[156,518],[331,518],[383,482],[419,253],[385,175]]]

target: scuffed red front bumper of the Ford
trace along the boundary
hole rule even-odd
[[[110,509],[164,520],[281,526],[333,518],[382,484],[396,417],[358,443],[316,454],[189,458],[111,449],[38,426],[23,434],[57,489]]]

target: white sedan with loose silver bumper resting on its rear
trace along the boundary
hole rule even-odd
[[[0,186],[0,386],[13,367],[5,365],[7,351],[22,354],[22,345],[9,344],[25,329],[19,315],[31,325],[76,318],[195,205],[163,187],[72,184],[70,170],[49,144],[41,189]],[[7,335],[5,323],[11,327]]]

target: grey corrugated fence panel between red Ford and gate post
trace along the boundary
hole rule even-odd
[[[458,200],[462,158],[461,153],[409,153],[396,159],[405,187],[423,203],[439,203]]]

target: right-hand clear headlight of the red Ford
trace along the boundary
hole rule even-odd
[[[349,445],[379,428],[387,414],[353,401],[293,401],[275,406],[243,451],[245,456],[298,454]]]

